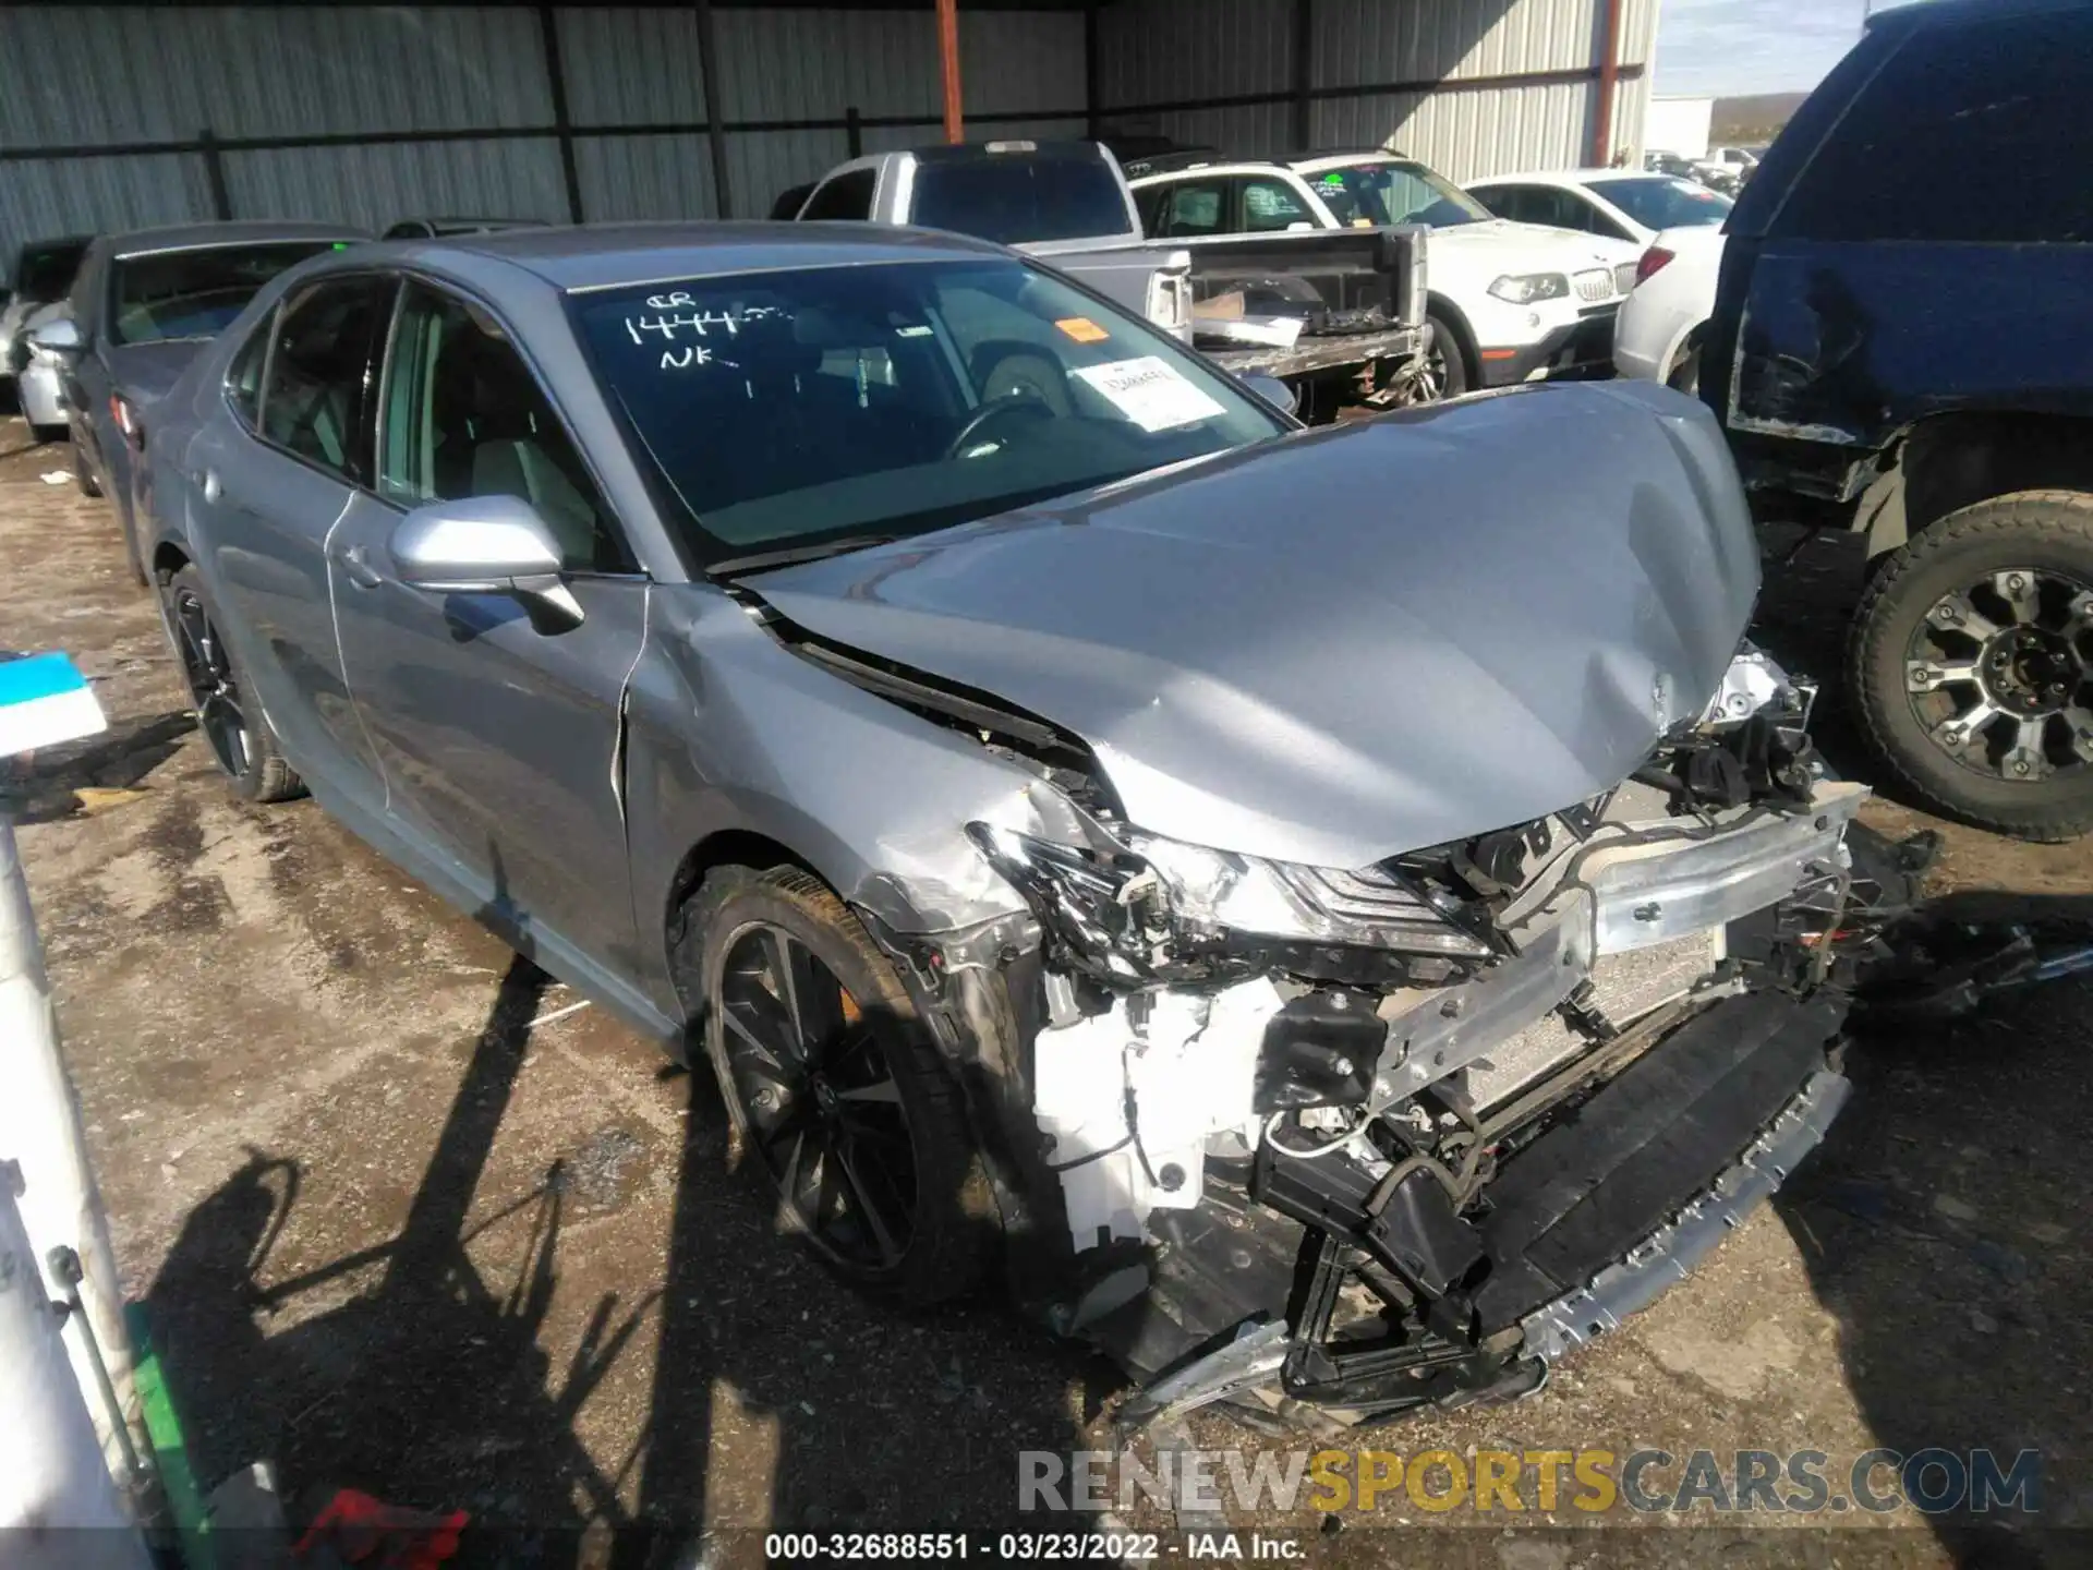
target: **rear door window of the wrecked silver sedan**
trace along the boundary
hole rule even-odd
[[[327,278],[276,314],[262,435],[352,486],[370,484],[370,381],[396,291],[375,272]]]

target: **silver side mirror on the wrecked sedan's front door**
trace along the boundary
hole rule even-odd
[[[385,542],[408,588],[431,595],[509,595],[540,632],[582,624],[561,578],[559,540],[521,496],[463,496],[402,517]]]

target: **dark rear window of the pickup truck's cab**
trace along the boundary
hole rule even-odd
[[[1095,151],[925,157],[908,222],[998,245],[1130,234],[1120,180]]]

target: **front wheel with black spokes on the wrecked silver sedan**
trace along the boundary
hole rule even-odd
[[[705,1055],[779,1225],[852,1285],[927,1306],[1000,1225],[954,1078],[892,961],[818,879],[722,867],[682,913]]]

